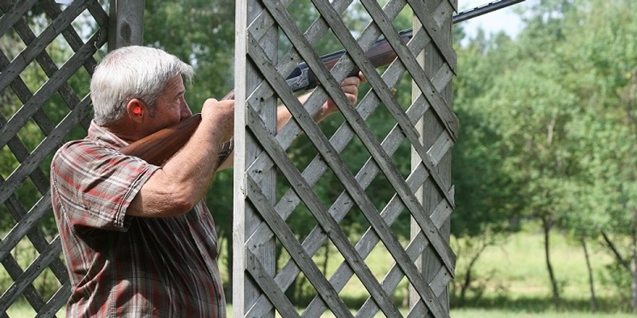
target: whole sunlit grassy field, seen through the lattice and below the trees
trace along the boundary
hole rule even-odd
[[[591,244],[590,253],[594,275],[596,278],[596,292],[600,298],[601,313],[589,311],[589,284],[583,251],[576,242],[571,242],[566,236],[559,233],[552,235],[552,262],[555,275],[560,282],[563,300],[555,304],[550,299],[550,285],[543,254],[543,237],[538,228],[533,225],[527,227],[524,232],[517,233],[506,238],[501,245],[489,247],[485,250],[480,261],[476,264],[475,277],[483,287],[482,298],[471,299],[463,307],[457,306],[452,300],[452,317],[538,317],[538,318],[597,318],[597,317],[634,317],[634,315],[622,314],[617,293],[612,285],[601,283],[601,274],[606,264],[612,263],[605,250]],[[221,249],[225,250],[225,249]],[[315,261],[322,266],[323,253],[318,253]],[[285,261],[285,255],[282,261]],[[327,262],[327,275],[331,275],[343,257],[338,255],[335,249],[330,249]],[[466,266],[466,257],[459,256],[457,262],[457,275],[460,275]],[[389,254],[382,247],[377,247],[368,257],[367,262],[377,278],[382,277],[392,266]],[[222,276],[227,271],[222,267]],[[7,286],[8,287],[8,286]],[[6,289],[6,288],[5,288]],[[394,291],[394,300],[401,304],[407,293],[407,282],[403,280]],[[305,301],[311,300],[313,290],[309,285],[305,286]],[[341,297],[355,312],[368,298],[364,287],[357,278],[348,282]],[[299,307],[304,306],[299,304]],[[299,308],[299,311],[303,309]],[[10,317],[32,317],[33,310],[25,303],[16,303],[8,310]],[[58,317],[63,317],[63,311]],[[333,317],[329,314],[324,317]],[[382,317],[382,315],[378,315]]]

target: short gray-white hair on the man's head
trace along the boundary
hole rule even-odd
[[[192,66],[157,48],[122,47],[106,54],[90,80],[95,122],[108,126],[124,117],[132,98],[144,101],[150,113],[175,75],[192,79]]]

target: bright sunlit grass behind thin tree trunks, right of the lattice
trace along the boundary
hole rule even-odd
[[[590,244],[590,262],[596,278],[596,294],[603,298],[616,296],[610,286],[600,284],[601,273],[612,257],[596,245]],[[587,300],[589,274],[582,247],[566,236],[552,232],[550,258],[564,298]],[[466,259],[459,257],[458,268]],[[543,235],[536,226],[506,239],[501,246],[490,247],[476,264],[480,277],[489,277],[485,294],[510,294],[513,297],[545,297],[551,294]]]

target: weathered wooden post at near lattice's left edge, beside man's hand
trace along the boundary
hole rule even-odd
[[[249,245],[248,238],[262,224],[261,217],[255,212],[250,201],[245,197],[248,169],[255,162],[263,148],[258,141],[245,129],[248,119],[248,107],[254,109],[266,125],[266,130],[276,132],[276,97],[256,95],[254,92],[264,78],[258,69],[248,60],[248,25],[251,25],[264,10],[261,1],[241,0],[236,2],[236,31],[235,31],[235,64],[234,64],[234,99],[235,99],[235,130],[234,130],[234,203],[233,203],[233,315],[244,317],[255,301],[262,296],[261,289],[254,280],[245,275],[247,257],[259,260],[268,275],[275,274],[275,244],[273,239],[264,240],[257,245]],[[262,25],[259,45],[263,48],[271,61],[277,57],[277,29],[276,25]],[[249,104],[249,105],[248,105]],[[258,171],[259,188],[267,198],[267,203],[276,203],[276,173],[275,169]],[[254,253],[251,256],[250,253]],[[274,311],[261,312],[259,317],[274,317]]]

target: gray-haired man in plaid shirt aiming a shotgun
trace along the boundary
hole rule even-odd
[[[88,136],[51,164],[68,317],[225,317],[215,223],[202,198],[215,171],[232,165],[232,155],[211,158],[233,136],[234,101],[208,99],[192,138],[161,167],[118,151],[192,114],[182,80],[192,73],[147,47],[120,48],[97,66]],[[352,103],[361,78],[341,85]],[[329,101],[317,120],[334,112]],[[290,116],[278,108],[278,129]]]

